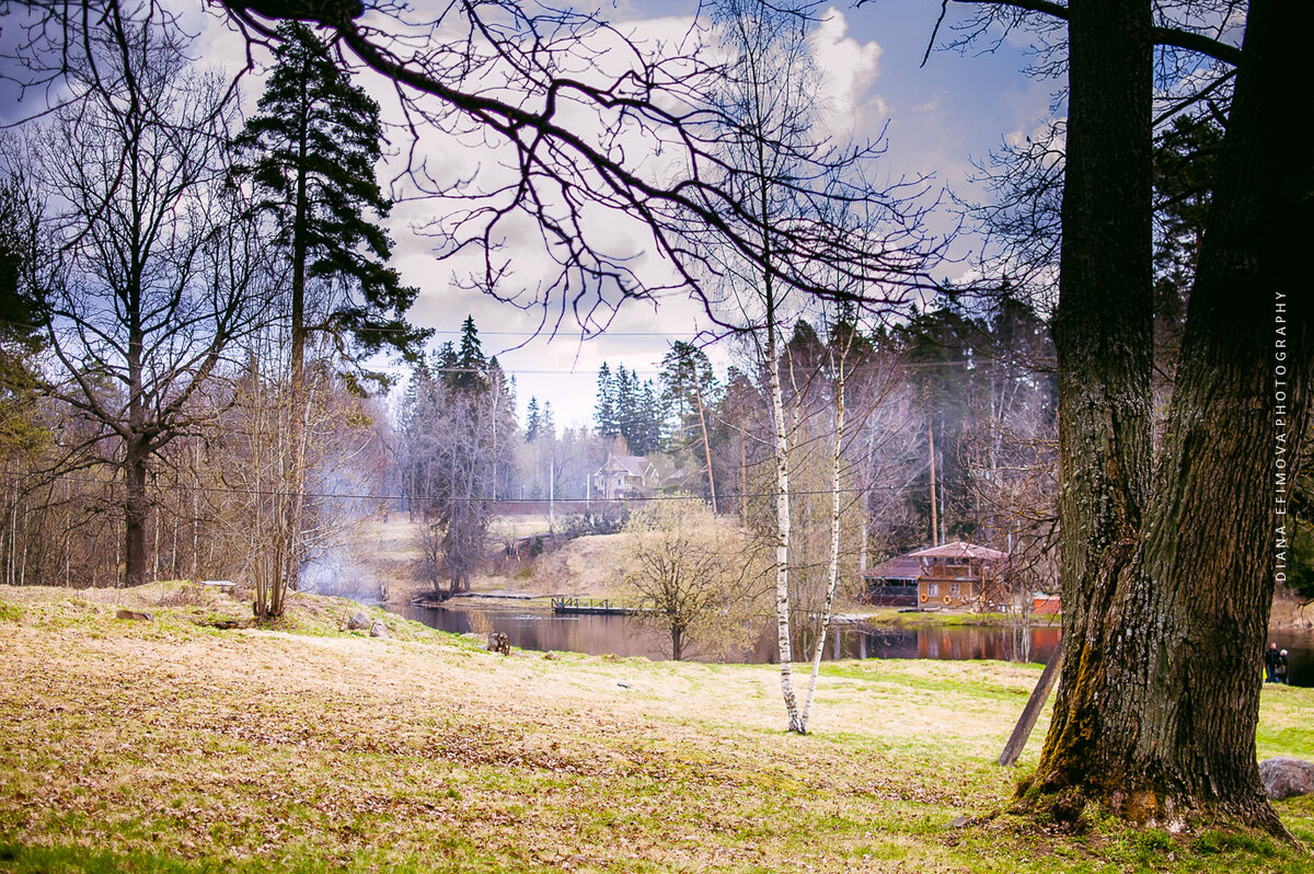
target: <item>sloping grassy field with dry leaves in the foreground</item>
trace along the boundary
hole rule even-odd
[[[118,607],[152,622],[116,619]],[[1081,836],[993,765],[1037,666],[828,664],[786,735],[770,666],[514,652],[351,602],[159,584],[0,587],[0,870],[1314,871],[1204,827]],[[1264,691],[1260,756],[1314,758],[1314,693]],[[1314,840],[1314,803],[1280,804]]]

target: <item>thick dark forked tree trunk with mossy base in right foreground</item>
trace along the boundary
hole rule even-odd
[[[1290,473],[1314,371],[1309,310],[1277,304],[1289,300],[1279,296],[1290,293],[1296,254],[1314,230],[1314,173],[1303,152],[1307,113],[1290,113],[1279,95],[1293,84],[1303,93],[1300,85],[1314,81],[1282,47],[1280,29],[1314,22],[1294,0],[1251,4],[1151,484],[1150,322],[1138,309],[1134,323],[1125,323],[1131,308],[1148,305],[1148,281],[1126,272],[1130,262],[1139,272],[1148,229],[1133,227],[1123,216],[1130,208],[1108,200],[1139,196],[1139,188],[1118,192],[1131,171],[1114,164],[1101,172],[1088,152],[1105,138],[1100,150],[1117,147],[1139,179],[1141,150],[1109,137],[1122,125],[1129,139],[1148,146],[1139,127],[1148,96],[1129,87],[1125,74],[1105,79],[1096,95],[1076,88],[1100,81],[1092,67],[1131,63],[1127,54],[1142,39],[1148,51],[1148,5],[1120,0],[1118,16],[1108,14],[1109,5],[1071,4],[1056,326],[1064,668],[1038,785],[1077,786],[1135,821],[1173,823],[1208,811],[1281,832],[1259,782],[1255,725],[1275,543],[1284,531],[1284,517],[1275,517],[1276,465],[1284,460]],[[1135,79],[1148,84],[1148,68],[1138,70]],[[1134,106],[1120,104],[1120,95]],[[1125,130],[1133,108],[1137,129]],[[1286,360],[1277,352],[1288,352]]]

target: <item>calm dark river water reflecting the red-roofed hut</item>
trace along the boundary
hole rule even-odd
[[[670,658],[670,640],[650,627],[625,616],[557,616],[541,611],[509,607],[419,607],[406,609],[406,618],[423,622],[442,631],[466,633],[487,620],[512,647],[536,651],[583,652],[594,656],[645,656]],[[987,626],[949,627],[844,627],[830,636],[824,657],[830,658],[1000,658],[1012,660],[1022,647],[1022,636],[1012,628]],[[1309,632],[1276,632],[1269,636],[1279,648],[1289,652],[1293,686],[1314,686],[1314,635]],[[795,652],[811,652],[805,640]],[[1059,644],[1056,627],[1031,628],[1026,661],[1049,660]],[[714,652],[686,656],[717,661]],[[777,660],[775,627],[762,630],[749,651],[732,653],[733,661],[773,664]],[[1261,670],[1261,666],[1256,666]]]

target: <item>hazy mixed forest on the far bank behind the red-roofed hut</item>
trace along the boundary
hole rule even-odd
[[[975,318],[946,306],[872,333],[849,322],[821,334],[807,319],[794,325],[781,368],[798,586],[820,580],[828,561],[836,363],[845,339],[850,426],[840,493],[844,577],[853,591],[861,573],[890,555],[951,539],[1010,549],[1020,593],[1053,587],[1053,346],[1045,323],[1016,301]],[[603,364],[591,425],[558,430],[551,401],[530,398],[526,409],[522,425],[515,381],[485,355],[473,318],[456,343],[415,368],[397,430],[385,439],[396,453],[374,489],[402,497],[388,502],[426,520],[435,589],[468,587],[499,503],[536,502],[547,514],[553,502],[593,501],[589,530],[616,530],[623,514],[597,490],[608,456],[641,455],[653,465],[643,495],[707,503],[767,540],[775,472],[763,439],[771,418],[763,368],[732,365],[717,377],[706,352],[675,342],[656,380],[639,382]],[[637,448],[629,440],[636,432]]]

